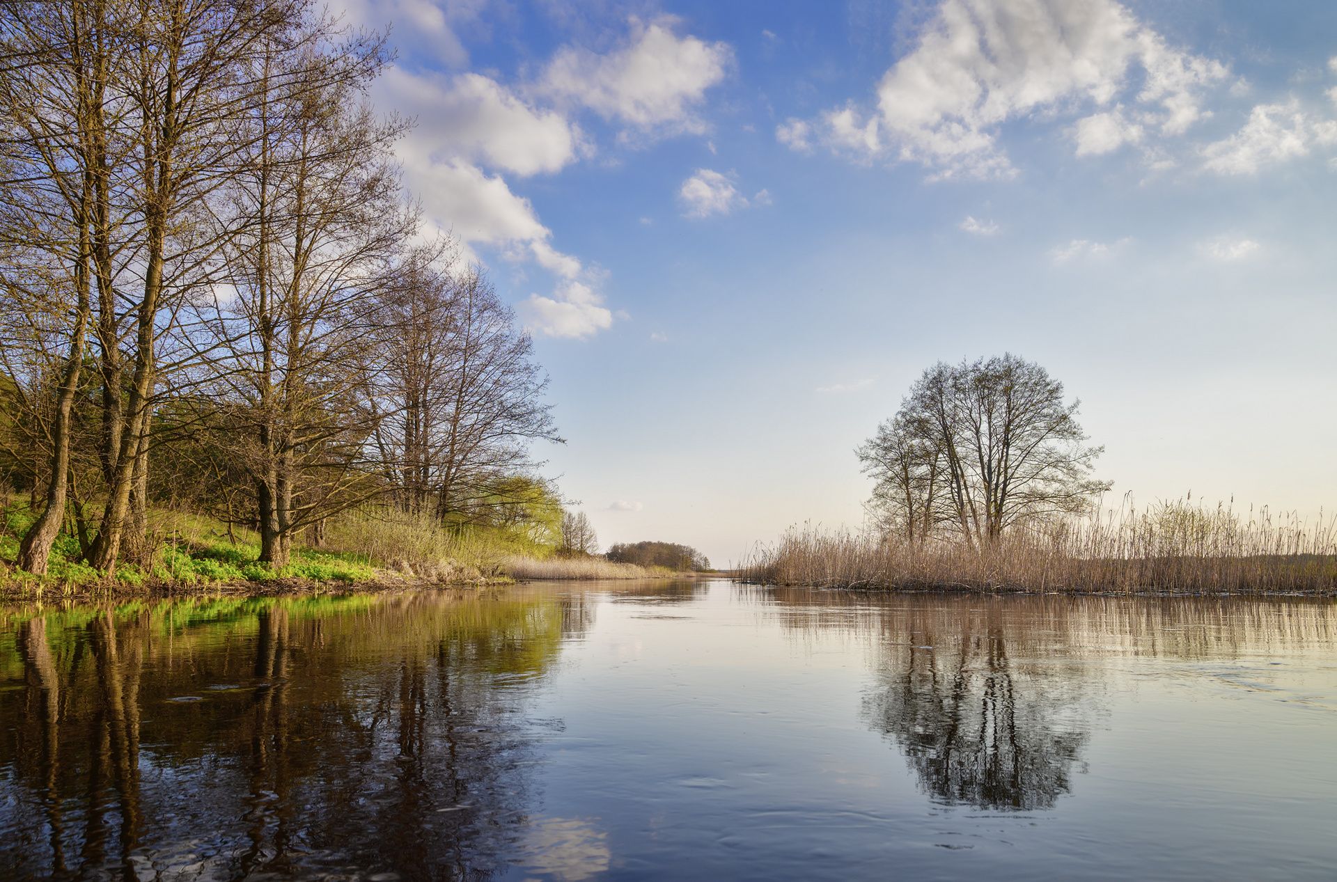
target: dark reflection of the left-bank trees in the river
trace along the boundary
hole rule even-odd
[[[11,613],[0,866],[493,875],[532,804],[528,687],[591,615],[523,591]]]

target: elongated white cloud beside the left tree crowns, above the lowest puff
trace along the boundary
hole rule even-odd
[[[392,67],[377,98],[417,119],[409,138],[433,156],[525,176],[559,171],[583,150],[580,130],[562,114],[536,110],[479,74],[437,78]]]

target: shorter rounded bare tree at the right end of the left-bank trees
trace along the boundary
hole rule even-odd
[[[533,343],[473,266],[439,249],[409,255],[378,325],[376,441],[401,502],[468,524],[517,501],[529,445],[558,441]],[[527,490],[525,490],[527,492]]]

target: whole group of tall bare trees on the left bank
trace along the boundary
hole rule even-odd
[[[373,497],[471,521],[543,489],[544,376],[481,273],[422,242],[406,123],[365,100],[385,61],[313,0],[3,5],[20,567],[70,525],[100,569],[142,555],[155,496],[254,525],[281,565]]]

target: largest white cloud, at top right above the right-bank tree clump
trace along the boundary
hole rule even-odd
[[[1115,0],[944,0],[882,76],[876,114],[846,104],[806,128],[790,120],[777,136],[798,150],[822,143],[919,162],[937,178],[1007,178],[1015,170],[997,135],[1011,120],[1082,106],[1114,112],[1122,99],[1135,120],[1098,112],[1078,128],[1079,148],[1108,152],[1142,130],[1182,134],[1207,115],[1203,91],[1227,75],[1219,61],[1170,47]]]

